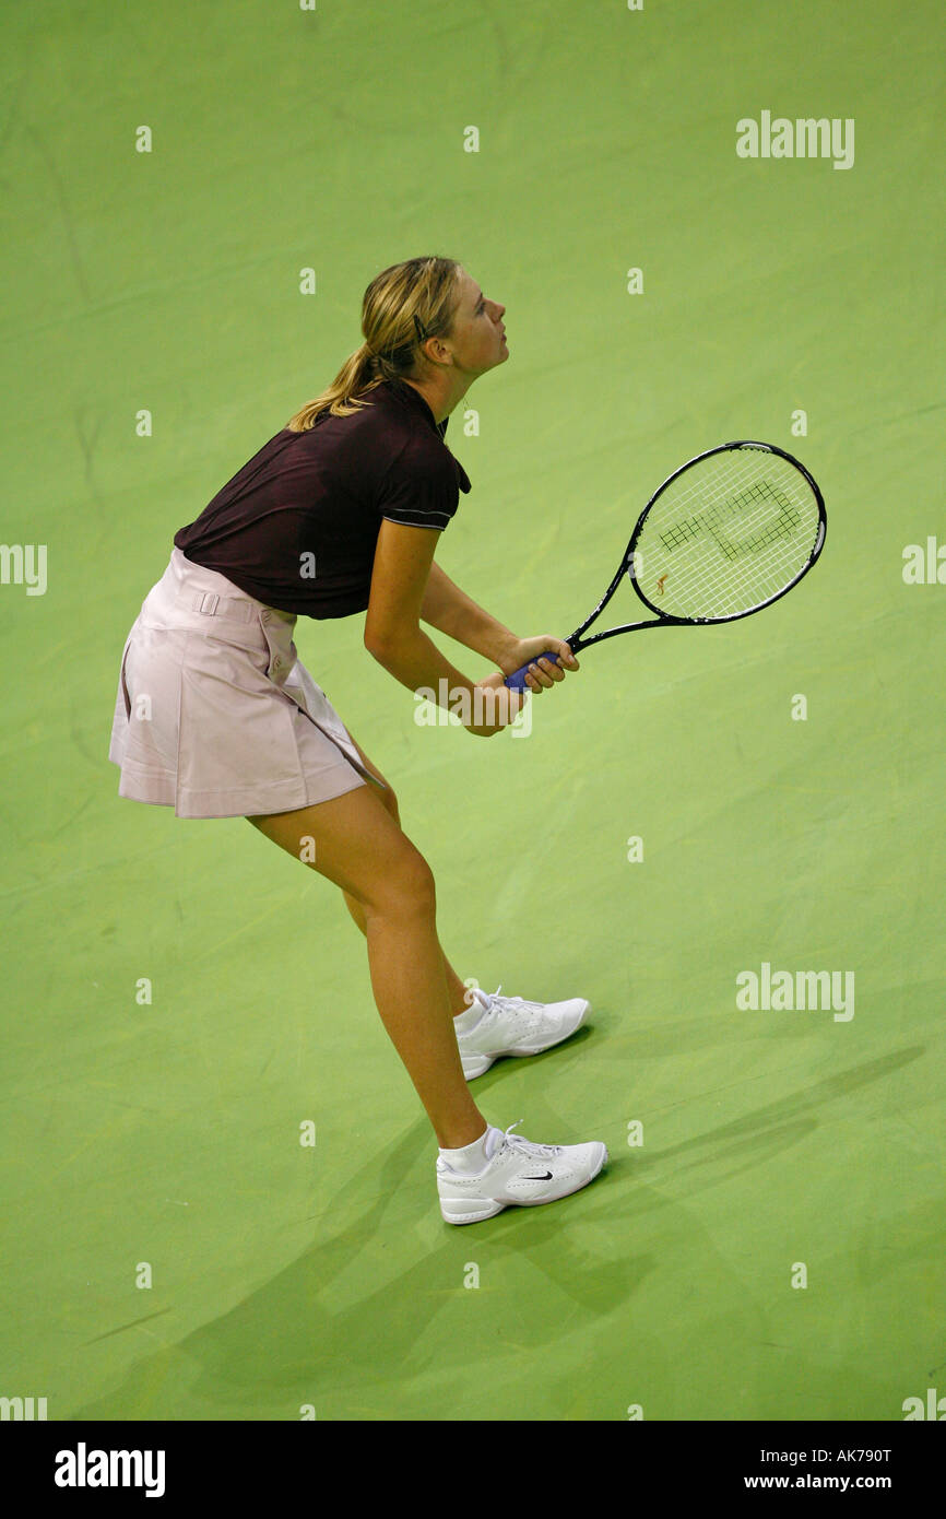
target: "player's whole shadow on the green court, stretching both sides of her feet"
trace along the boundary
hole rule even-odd
[[[692,1227],[689,1220],[682,1226],[679,1217],[674,1223],[679,1198],[664,1195],[657,1186],[697,1167],[715,1168],[705,1173],[700,1188],[765,1167],[817,1129],[828,1104],[922,1054],[922,1047],[911,1047],[866,1062],[665,1150],[635,1153],[633,1159],[612,1154],[586,1192],[542,1209],[507,1209],[468,1229],[449,1229],[439,1217],[430,1218],[430,1135],[427,1121],[419,1120],[381,1164],[374,1157],[317,1215],[349,1212],[369,1191],[372,1200],[345,1229],[313,1244],[179,1344],[140,1360],[111,1393],[70,1417],[220,1417],[220,1410],[232,1417],[264,1417],[261,1410],[269,1407],[285,1410],[273,1417],[293,1419],[298,1404],[317,1407],[322,1391],[331,1404],[371,1401],[372,1384],[390,1417],[392,1378],[422,1382],[427,1370],[436,1378],[462,1376],[478,1363],[489,1366],[500,1337],[519,1352],[539,1352],[562,1334],[562,1311],[550,1311],[550,1303],[562,1297],[572,1305],[569,1331],[597,1320],[620,1323],[621,1305],[657,1267],[667,1267],[682,1227]],[[686,1156],[692,1159],[668,1168],[668,1162]],[[730,1164],[739,1157],[743,1164]],[[642,1185],[647,1176],[651,1183]],[[661,1227],[647,1235],[644,1217],[661,1209],[668,1212],[668,1232]],[[380,1281],[375,1290],[358,1291],[366,1277],[384,1276],[386,1236],[395,1236],[390,1249],[396,1256],[410,1249],[404,1235],[412,1229],[419,1247],[415,1264]],[[431,1243],[430,1249],[424,1241]],[[478,1293],[463,1294],[463,1268],[471,1256],[489,1261],[489,1281]],[[510,1294],[504,1276],[516,1264],[533,1279],[539,1273],[545,1287]],[[471,1312],[465,1320],[463,1334],[456,1332],[449,1314],[459,1297],[477,1300],[475,1317]],[[188,1411],[179,1411],[182,1399]],[[381,1410],[372,1410],[369,1402],[366,1411],[371,1416]]]

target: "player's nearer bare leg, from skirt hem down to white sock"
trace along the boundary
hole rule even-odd
[[[313,852],[311,869],[361,908],[375,1003],[437,1144],[448,1150],[472,1144],[487,1123],[460,1063],[436,930],[434,880],[424,857],[371,785],[249,822],[296,860]],[[314,851],[307,840],[314,842]]]

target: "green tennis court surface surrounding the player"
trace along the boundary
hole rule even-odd
[[[0,586],[0,1394],[802,1422],[946,1393],[946,585],[903,579],[946,544],[940,6],[96,0],[3,32],[3,539],[47,583]],[[853,163],[739,156],[762,112],[856,123]],[[474,1092],[607,1170],[468,1229],[340,893],[241,819],[120,801],[106,760],[173,533],[418,254],[507,307],[439,561],[522,636],[571,632],[715,444],[797,454],[829,519],[777,606],[589,650],[489,743],[419,726],[361,617],[299,621],[460,975],[594,1007]],[[762,966],[853,1000],[744,1010]]]

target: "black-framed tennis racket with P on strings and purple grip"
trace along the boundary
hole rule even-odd
[[[825,545],[825,501],[805,465],[773,444],[721,444],[689,459],[656,491],[607,591],[563,641],[572,653],[641,627],[735,623],[771,606]],[[585,636],[627,576],[656,612]],[[536,659],[559,662],[557,655]],[[506,685],[525,690],[530,659]]]

